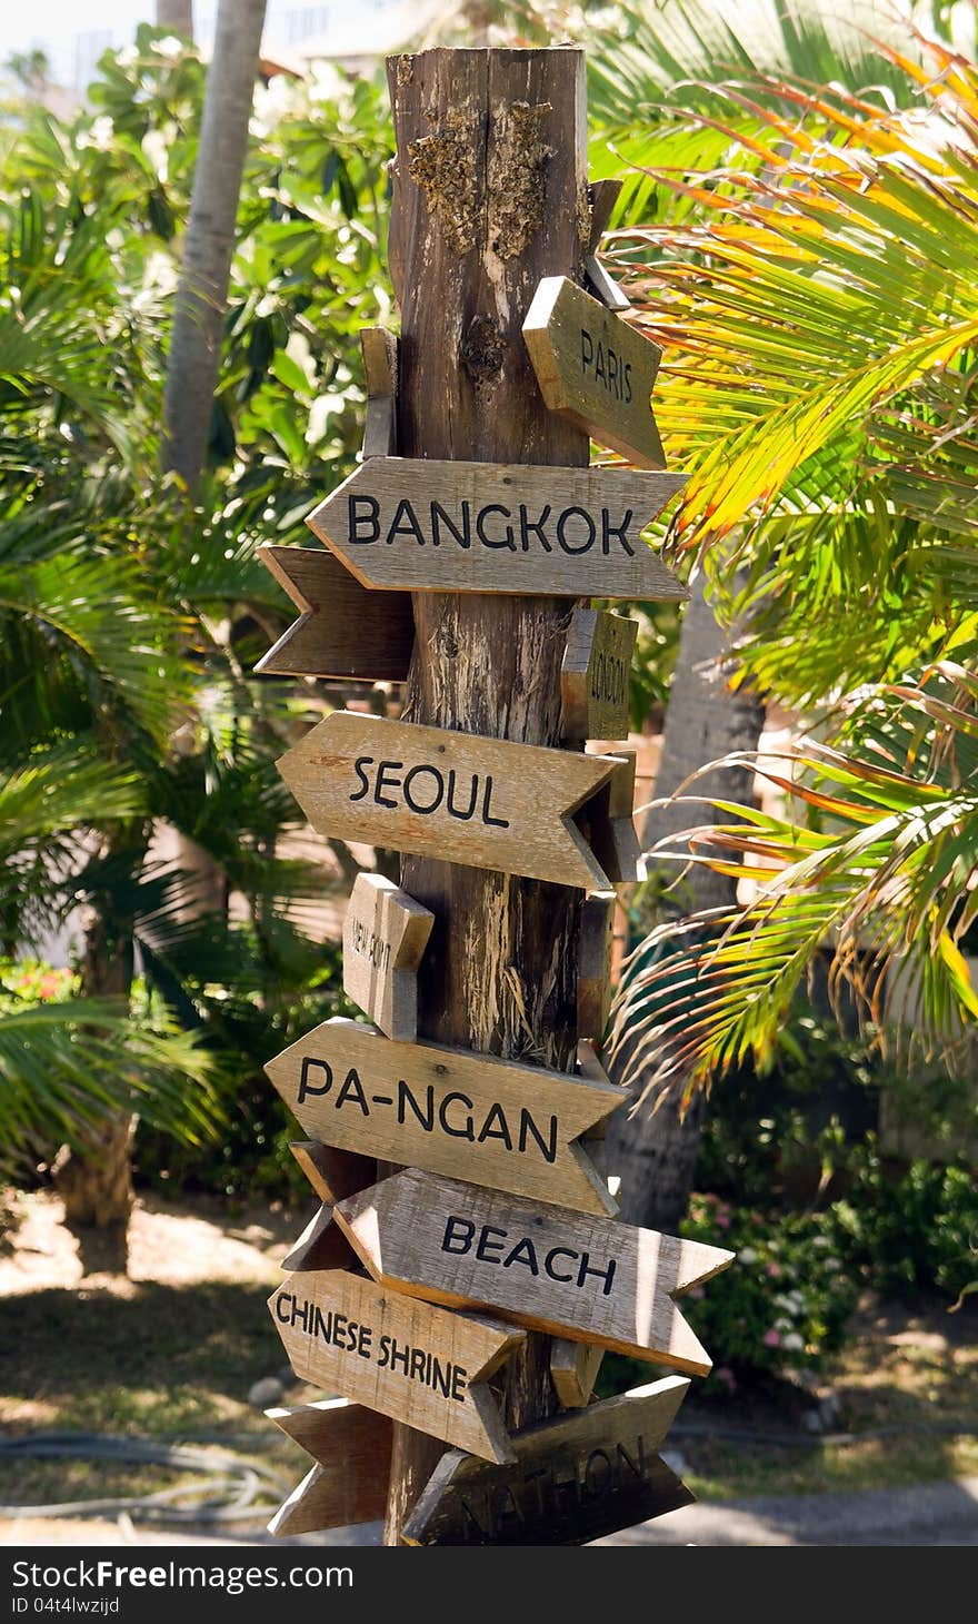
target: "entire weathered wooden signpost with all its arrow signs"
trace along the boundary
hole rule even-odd
[[[264,671],[407,676],[401,721],[332,713],[279,763],[316,830],[404,859],[401,887],[357,880],[344,934],[376,1025],[268,1067],[324,1203],[272,1319],[354,1402],[274,1415],[318,1465],[272,1527],[386,1509],[389,1544],[573,1544],[689,1497],[657,1455],[684,1380],[582,1406],[602,1348],[709,1369],[671,1299],[730,1262],[616,1224],[582,1142],[621,1104],[579,1038],[637,843],[634,762],[582,750],[628,731],[634,628],[581,601],[686,596],[641,539],[683,479],[658,352],[594,260],[582,52],[388,76],[401,343],[365,348],[365,461],[310,516],[328,551],[269,551],[303,617]],[[589,430],[652,471],[589,469]]]

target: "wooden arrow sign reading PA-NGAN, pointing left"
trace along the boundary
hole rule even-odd
[[[342,1017],[266,1072],[303,1129],[331,1145],[577,1212],[618,1212],[579,1143],[626,1099],[603,1072],[594,1082],[436,1043],[391,1043]]]

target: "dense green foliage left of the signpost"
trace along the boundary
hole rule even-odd
[[[10,1012],[3,1125],[36,1147],[136,1106],[203,1168],[203,1116],[224,1109],[248,1177],[240,1108],[263,1059],[337,1000],[311,913],[323,867],[289,856],[274,770],[307,703],[248,677],[294,617],[255,549],[303,536],[354,463],[357,333],[391,309],[391,146],[380,84],[258,94],[188,508],[157,469],[204,68],[162,39],[141,28],[109,54],[71,123],[23,106],[0,133],[2,945],[78,905],[91,919],[76,997]],[[154,856],[162,825],[211,859],[206,885]]]

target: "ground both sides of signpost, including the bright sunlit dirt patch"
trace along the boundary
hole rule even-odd
[[[216,1202],[139,1202],[130,1275],[86,1263],[47,1192],[11,1195],[0,1237],[0,1544],[190,1543],[261,1538],[310,1460],[263,1408],[326,1397],[290,1376],[268,1314],[279,1263],[315,1210]],[[277,1379],[281,1397],[250,1402]],[[798,1398],[694,1389],[670,1434],[676,1470],[704,1502],[751,1496],[900,1489],[978,1475],[978,1302],[879,1302],[864,1294],[843,1354],[829,1372],[835,1429],[806,1432]],[[962,1424],[962,1432],[954,1431]],[[240,1471],[272,1473],[232,1523],[193,1522],[206,1481],[159,1463],[16,1458],[34,1432],[112,1434],[159,1444],[221,1445]],[[6,1453],[3,1453],[6,1447]],[[182,1527],[146,1520],[146,1496],[174,1489]],[[118,1504],[94,1518],[24,1515],[24,1507]]]

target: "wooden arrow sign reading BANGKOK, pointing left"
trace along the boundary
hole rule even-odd
[[[642,531],[684,474],[375,456],[307,525],[363,586],[683,599]]]

